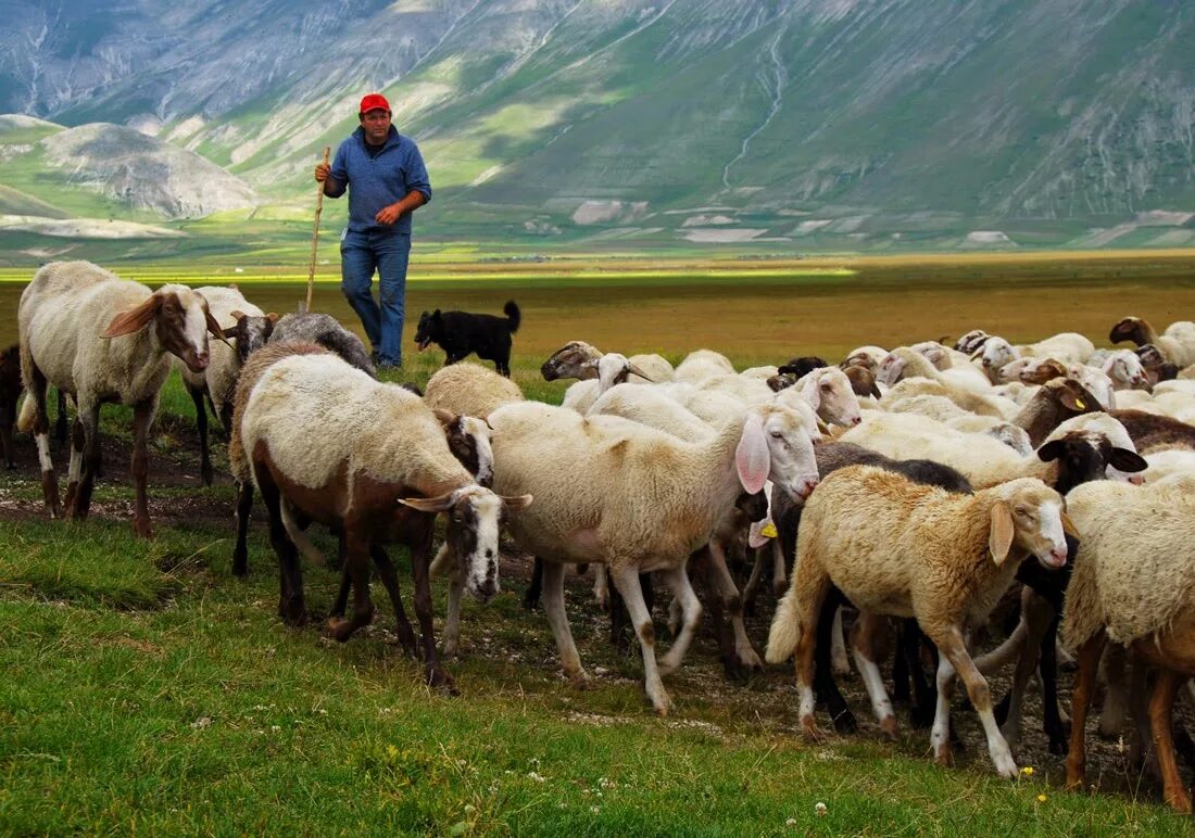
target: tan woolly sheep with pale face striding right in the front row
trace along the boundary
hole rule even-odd
[[[1022,560],[1034,555],[1047,568],[1066,563],[1062,497],[1040,480],[1023,477],[975,494],[954,494],[914,483],[870,466],[829,475],[802,514],[792,586],[780,600],[767,641],[767,660],[797,655],[801,725],[814,723],[813,666],[817,618],[831,586],[871,615],[917,617],[938,647],[938,711],[931,746],[949,762],[949,698],[957,672],[987,734],[997,771],[1017,766],[992,713],[987,682],[967,652],[964,633],[987,614],[1012,583]],[[856,643],[863,676],[881,726],[895,734],[896,720],[869,649]]]

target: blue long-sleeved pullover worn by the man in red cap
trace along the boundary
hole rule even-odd
[[[366,131],[357,128],[336,149],[336,159],[329,175],[341,185],[339,191],[327,192],[330,198],[339,198],[349,189],[349,230],[354,233],[411,234],[411,214],[398,216],[390,227],[379,224],[374,216],[382,207],[397,203],[412,191],[423,193],[424,203],[431,201],[431,183],[423,165],[423,155],[410,137],[404,137],[391,125],[390,136],[381,152],[370,156],[366,148]]]

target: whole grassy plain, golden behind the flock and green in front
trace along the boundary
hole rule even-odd
[[[497,313],[508,298],[523,316],[514,380],[528,398],[553,402],[568,382],[544,382],[538,368],[572,339],[674,362],[706,346],[743,368],[813,353],[838,361],[864,343],[976,327],[1015,341],[1078,331],[1107,345],[1127,314],[1159,328],[1195,316],[1195,253],[1103,255],[429,264],[425,276],[412,269],[407,365],[391,377],[422,386],[442,361],[436,347],[413,352],[421,310]],[[235,281],[280,313],[294,310],[306,278],[302,267],[114,267],[154,282]],[[0,273],[4,345],[16,341],[17,301],[31,275]],[[335,281],[319,283],[314,308],[357,327]],[[862,732],[808,744],[791,667],[730,682],[705,635],[666,679],[676,714],[657,719],[642,695],[637,647],[621,653],[607,642],[589,580],[570,578],[570,621],[595,682],[578,691],[558,674],[543,612],[520,605],[523,555],[503,563],[494,602],[466,600],[462,654],[446,666],[460,695],[429,691],[390,631],[385,597],[374,626],[343,646],[321,635],[319,621],[281,624],[261,506],[250,577],[232,577],[225,449],[216,445],[216,485],[203,488],[177,375],[154,426],[152,542],[134,538],[129,522],[129,412],[105,408],[102,432],[109,474],[87,522],[44,518],[27,438],[18,437],[18,469],[0,474],[0,833],[1190,831],[1189,819],[1162,806],[1153,780],[1127,769],[1121,744],[1093,734],[1095,793],[1064,791],[1036,692],[1018,760],[1032,771],[1015,783],[992,771],[970,710],[955,714],[966,750],[952,769],[932,764],[927,732],[906,725],[896,743],[884,741],[857,677],[845,686]],[[61,475],[66,452],[54,456]],[[317,543],[335,555],[330,540]],[[405,553],[396,554],[409,597]],[[305,574],[319,612],[337,575],[319,566]],[[748,622],[760,648],[773,606],[764,596]],[[443,608],[437,583],[437,615]]]

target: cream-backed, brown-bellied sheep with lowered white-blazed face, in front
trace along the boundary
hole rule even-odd
[[[373,620],[372,557],[391,594],[403,647],[415,654],[393,566],[381,549],[402,540],[411,547],[427,680],[451,689],[431,626],[428,565],[435,513],[452,511],[447,537],[467,568],[470,593],[485,600],[498,590],[501,519],[526,509],[531,495],[503,498],[479,486],[448,450],[440,420],[422,399],[335,356],[295,355],[266,366],[249,392],[237,431],[270,513],[270,541],[282,567],[282,618],[288,624],[306,621],[286,505],[341,536],[355,602],[351,620],[333,610],[332,636],[347,641]]]

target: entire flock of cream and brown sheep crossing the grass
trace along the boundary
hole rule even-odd
[[[206,482],[208,406],[229,433],[240,487],[234,572],[247,571],[256,489],[289,624],[307,620],[300,555],[315,552],[305,531],[319,523],[337,534],[343,560],[333,636],[348,640],[372,621],[376,567],[404,651],[430,683],[453,689],[439,655],[458,649],[462,593],[497,592],[505,530],[537,557],[534,584],[564,672],[588,677],[563,580],[568,565],[589,565],[596,596],[612,614],[625,608],[646,696],[666,714],[673,702],[662,677],[681,665],[700,626],[691,574],[704,574],[713,594],[728,668],[750,670],[762,661],[743,603],[771,566],[784,596],[765,657],[795,655],[808,737],[820,735],[819,701],[838,729],[854,726],[835,684],[848,666],[841,610],[851,608],[851,654],[889,735],[896,717],[878,649],[895,631],[896,690],[912,683],[914,717],[932,717],[939,762],[950,759],[957,676],[997,771],[1016,776],[1022,697],[1040,671],[1052,748],[1070,748],[1067,783],[1081,787],[1085,720],[1105,672],[1102,729],[1132,707],[1135,741],[1142,751],[1152,744],[1166,801],[1190,811],[1171,711],[1195,674],[1195,324],[1158,335],[1122,320],[1110,341],[1133,340],[1135,350],[1097,350],[1074,333],[1013,346],[975,331],[952,347],[862,346],[840,365],[797,358],[742,371],[707,350],[674,368],[658,355],[627,358],[572,341],[541,369],[547,380],[578,378],[557,407],[468,363],[445,366],[423,394],[379,382],[360,340],[326,315],[278,319],[235,289],[151,291],[90,263],[42,267],[18,321],[29,394],[18,426],[36,439],[50,514],[87,514],[99,407],[118,401],[134,408],[134,526],[151,534],[146,440],[177,359],[195,400]],[[65,500],[49,454],[49,386],[78,409]],[[434,552],[440,513],[446,537]],[[385,549],[396,541],[411,550],[418,637]],[[744,542],[755,555],[740,590],[728,561]],[[451,579],[439,649],[435,572]],[[658,659],[644,574],[672,593],[674,640]],[[1024,585],[1019,624],[973,657],[972,631],[1015,583]],[[1070,734],[1056,696],[1059,646],[1079,667]],[[995,707],[983,673],[1011,663],[1012,692]],[[1144,678],[1124,688],[1129,664],[1156,673],[1151,690]]]

